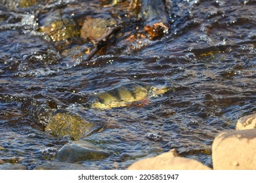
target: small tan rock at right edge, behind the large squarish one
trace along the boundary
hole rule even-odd
[[[256,113],[240,118],[236,129],[256,129]]]

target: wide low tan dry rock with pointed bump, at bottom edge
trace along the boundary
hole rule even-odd
[[[160,154],[154,158],[141,159],[133,163],[129,170],[210,170],[209,167],[193,160],[178,157],[175,150]]]

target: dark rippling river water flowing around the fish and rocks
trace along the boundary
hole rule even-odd
[[[36,1],[32,7],[17,2],[0,3],[4,162],[33,169],[54,161],[68,140],[44,133],[42,124],[60,108],[104,126],[83,140],[112,155],[79,162],[83,165],[125,169],[137,159],[177,148],[181,156],[211,166],[215,135],[234,129],[238,118],[256,110],[256,1],[168,1],[170,29],[165,37],[127,43],[125,36],[133,33],[127,28],[90,61],[83,51],[91,43],[79,37],[51,41],[38,31],[43,18],[61,12],[79,27],[85,16],[106,18],[116,12],[125,22],[125,8],[103,7],[96,0]],[[95,91],[132,81],[173,90],[144,107],[82,106]]]

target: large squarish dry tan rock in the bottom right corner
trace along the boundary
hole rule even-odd
[[[223,131],[212,148],[213,169],[256,169],[256,129]]]

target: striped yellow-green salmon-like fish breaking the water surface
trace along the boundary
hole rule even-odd
[[[123,84],[93,97],[91,108],[110,109],[132,106],[137,102],[146,101],[150,97],[160,95],[169,88],[156,88],[146,82]]]

